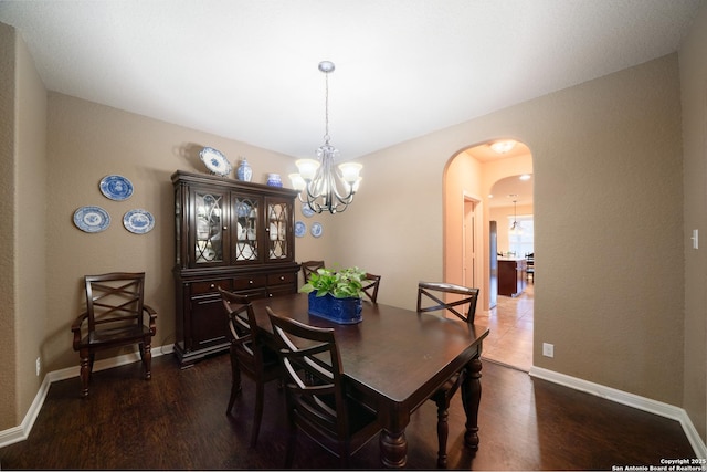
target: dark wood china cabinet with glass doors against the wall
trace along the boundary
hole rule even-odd
[[[175,353],[182,366],[228,350],[218,287],[264,298],[297,291],[292,189],[178,170]]]

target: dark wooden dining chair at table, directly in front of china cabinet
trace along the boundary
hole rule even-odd
[[[231,415],[235,398],[241,394],[241,374],[255,382],[255,410],[251,447],[257,443],[263,418],[265,384],[281,379],[283,370],[277,353],[261,343],[261,333],[255,323],[255,313],[246,295],[219,287],[223,308],[228,315],[228,337],[231,343],[231,396],[226,415]]]

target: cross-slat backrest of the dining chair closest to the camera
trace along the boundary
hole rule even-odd
[[[334,329],[278,316],[270,306],[266,310],[285,367],[292,420],[320,442],[346,438],[349,419]]]

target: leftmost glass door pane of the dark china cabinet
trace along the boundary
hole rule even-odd
[[[194,191],[194,258],[197,264],[223,262],[223,195]]]

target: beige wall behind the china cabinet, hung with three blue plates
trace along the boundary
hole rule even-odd
[[[158,313],[154,346],[171,346],[175,199],[170,176],[177,169],[205,172],[198,156],[204,146],[221,150],[232,162],[244,156],[253,168],[253,180],[260,182],[265,182],[267,172],[286,176],[294,170],[292,158],[57,93],[49,95],[49,129],[48,303],[52,316],[46,319],[44,340],[48,368],[77,364],[70,326],[83,306],[84,274],[145,271],[146,302]],[[129,199],[113,201],[101,193],[98,182],[110,174],[133,182]],[[74,211],[86,204],[103,207],[110,214],[106,231],[91,234],[74,227]],[[123,214],[135,208],[155,216],[149,233],[133,234],[123,227]]]

